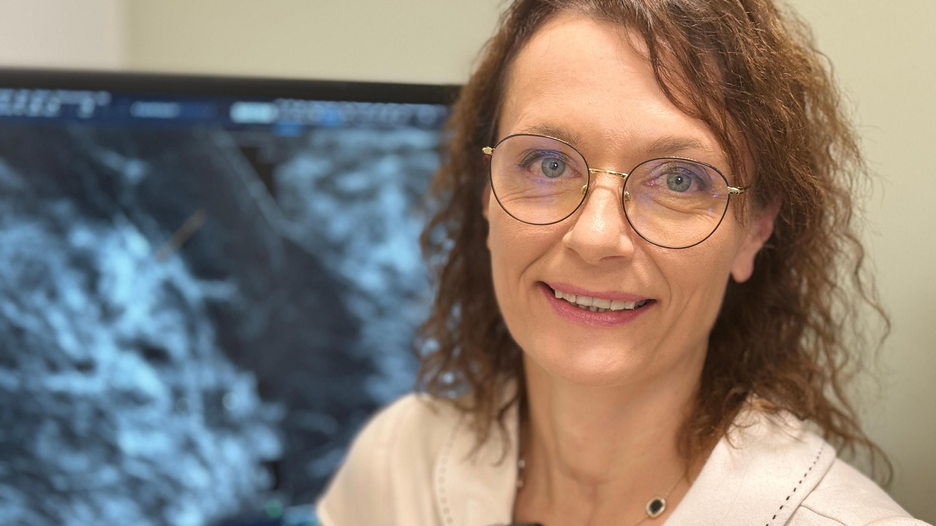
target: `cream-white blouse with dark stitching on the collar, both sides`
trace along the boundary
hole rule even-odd
[[[794,417],[750,411],[722,439],[661,526],[925,526],[836,458]],[[323,526],[509,524],[517,481],[518,412],[509,441],[475,434],[448,403],[410,394],[367,424],[317,504]],[[505,449],[506,447],[506,449]],[[553,526],[553,525],[547,525]]]

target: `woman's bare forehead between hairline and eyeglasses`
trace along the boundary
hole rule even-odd
[[[722,164],[709,127],[666,97],[643,49],[642,41],[610,22],[573,14],[548,22],[510,67],[499,137],[554,130],[595,165],[638,162],[649,153]],[[674,151],[653,151],[667,144]]]

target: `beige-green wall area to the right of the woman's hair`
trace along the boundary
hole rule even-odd
[[[855,108],[881,175],[866,234],[893,333],[884,396],[864,413],[895,461],[891,493],[936,523],[936,17],[932,0],[797,0]],[[885,7],[886,6],[886,7]]]

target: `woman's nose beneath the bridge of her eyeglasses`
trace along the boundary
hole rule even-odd
[[[623,179],[617,173],[593,173],[588,194],[573,226],[563,236],[565,246],[590,264],[634,255],[636,232],[622,208]]]

